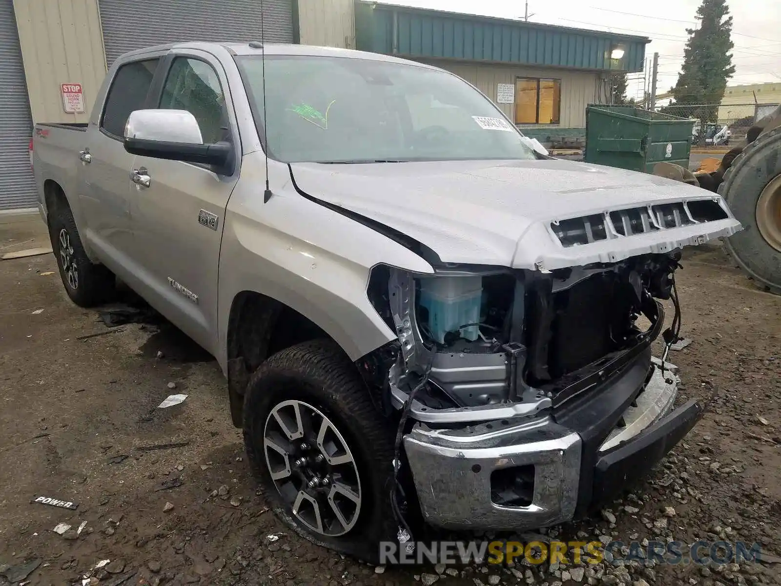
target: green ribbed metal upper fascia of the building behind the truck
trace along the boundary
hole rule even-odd
[[[642,71],[646,37],[356,0],[363,51],[587,70]],[[612,48],[624,49],[610,59]]]

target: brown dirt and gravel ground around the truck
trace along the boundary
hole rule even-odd
[[[0,225],[0,252],[19,248],[25,230],[40,238],[37,225]],[[287,531],[255,495],[215,361],[166,324],[77,339],[107,328],[95,311],[73,306],[55,271],[51,254],[0,261],[0,584],[2,575],[82,584],[80,576],[102,559],[111,563],[94,572],[92,584],[391,586],[415,584],[420,573],[430,574],[425,583],[435,579],[432,567],[377,573]],[[707,415],[646,484],[601,518],[545,533],[758,541],[781,555],[781,298],[754,288],[718,246],[688,255],[678,282],[683,334],[694,343],[673,352],[672,361],[683,377],[681,400],[703,399]],[[156,409],[172,393],[188,396]],[[186,445],[140,449],[177,442]],[[30,502],[41,495],[78,502],[78,509]],[[665,506],[674,516],[665,516]],[[70,531],[52,531],[58,523]],[[279,539],[269,541],[273,533]],[[438,580],[781,584],[779,563],[632,563],[628,573],[600,564],[585,575],[548,566],[459,570]]]

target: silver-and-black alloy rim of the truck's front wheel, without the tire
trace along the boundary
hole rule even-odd
[[[263,452],[293,515],[326,537],[344,535],[361,512],[361,481],[347,441],[323,412],[288,400],[266,418]]]

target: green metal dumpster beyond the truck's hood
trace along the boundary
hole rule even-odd
[[[630,105],[586,108],[587,163],[651,173],[656,163],[689,168],[694,120]]]

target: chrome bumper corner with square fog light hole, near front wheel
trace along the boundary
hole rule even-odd
[[[450,528],[543,527],[572,518],[580,471],[580,436],[551,420],[503,425],[497,420],[458,430],[418,423],[405,449],[426,521]],[[491,501],[491,474],[533,465],[529,506]]]

